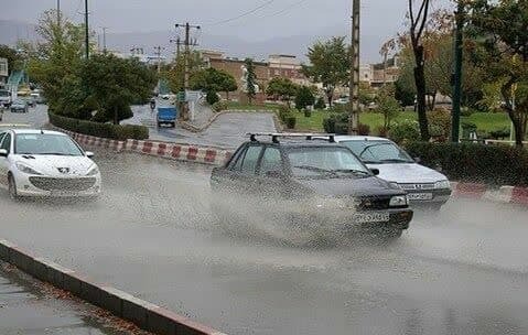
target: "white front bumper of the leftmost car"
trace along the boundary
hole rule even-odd
[[[100,175],[93,176],[95,183],[86,190],[43,190],[30,181],[31,176],[22,173],[15,175],[17,195],[28,197],[97,197],[101,193]]]

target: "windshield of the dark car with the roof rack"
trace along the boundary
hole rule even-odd
[[[313,147],[290,149],[288,159],[293,175],[321,176],[370,176],[370,171],[345,148]]]

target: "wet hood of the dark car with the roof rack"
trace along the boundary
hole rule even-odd
[[[298,183],[321,195],[380,196],[405,194],[376,176],[364,179],[299,179]]]

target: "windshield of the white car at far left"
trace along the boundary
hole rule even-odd
[[[64,134],[19,133],[14,140],[17,154],[83,155],[75,142]]]

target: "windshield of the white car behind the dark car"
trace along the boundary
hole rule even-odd
[[[411,156],[389,141],[343,141],[364,163],[413,163]]]

